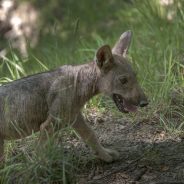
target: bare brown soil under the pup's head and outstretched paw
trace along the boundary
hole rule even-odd
[[[184,139],[167,135],[156,119],[132,123],[109,114],[88,119],[100,142],[121,156],[109,164],[91,159],[90,149],[76,140],[85,163],[78,184],[184,184]]]

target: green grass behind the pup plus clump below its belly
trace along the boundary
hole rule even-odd
[[[80,3],[65,2],[63,19],[49,17],[48,25],[55,26],[48,26],[42,31],[39,45],[30,50],[27,60],[13,51],[1,60],[0,82],[9,82],[63,64],[90,61],[99,46],[106,43],[113,46],[123,31],[131,29],[134,35],[129,57],[140,84],[148,94],[150,105],[136,115],[129,115],[129,118],[132,121],[141,118],[151,121],[158,117],[158,123],[167,133],[183,134],[183,95],[179,93],[174,97],[179,100],[173,105],[172,91],[182,91],[184,86],[184,8],[175,4],[175,16],[173,20],[168,20],[168,10],[161,7],[157,0],[135,0],[133,3],[112,0],[101,2],[98,6],[95,3],[97,0],[93,3],[84,0]],[[183,4],[182,1],[180,3]],[[58,11],[57,6],[52,8]],[[46,19],[49,6],[45,5],[42,11]],[[86,105],[87,109],[96,108],[99,112],[106,109],[116,111],[114,107],[110,99],[102,96]],[[21,179],[26,183],[69,183],[78,164],[72,153],[66,156],[62,146],[53,144],[52,149],[37,155],[32,149],[33,144],[32,139],[26,143],[7,143],[8,156],[5,167],[0,171],[1,182],[11,183],[15,178],[19,183]],[[19,153],[14,155],[17,146]],[[23,151],[20,151],[21,148]]]

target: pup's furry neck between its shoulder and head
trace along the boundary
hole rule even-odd
[[[76,92],[80,101],[85,103],[99,93],[98,80],[100,72],[94,62],[80,65],[78,67]]]

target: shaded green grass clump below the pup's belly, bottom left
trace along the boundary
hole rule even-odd
[[[0,183],[75,183],[79,158],[53,138],[43,147],[37,147],[35,140],[33,135],[7,143]]]

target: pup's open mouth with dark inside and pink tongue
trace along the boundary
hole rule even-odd
[[[135,112],[137,110],[137,106],[131,104],[127,100],[125,100],[121,95],[119,94],[113,94],[112,96],[117,108],[119,111],[128,113],[128,112]]]

